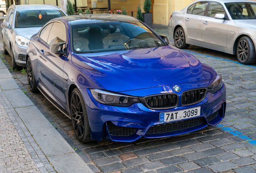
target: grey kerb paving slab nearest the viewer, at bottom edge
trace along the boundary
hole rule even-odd
[[[50,156],[47,158],[59,173],[93,173],[77,153],[68,153],[66,155]]]

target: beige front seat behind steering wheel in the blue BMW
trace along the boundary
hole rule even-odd
[[[103,34],[107,34],[103,39],[103,47],[109,48],[109,45],[113,44],[124,44],[127,40],[130,38],[128,36],[125,36],[120,33],[120,29],[117,28],[117,30],[114,33],[110,33],[111,31],[109,29],[104,29]]]

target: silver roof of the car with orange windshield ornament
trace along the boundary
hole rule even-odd
[[[55,5],[51,4],[26,4],[26,5],[14,5],[16,7],[16,11],[22,11],[22,10],[60,10]]]

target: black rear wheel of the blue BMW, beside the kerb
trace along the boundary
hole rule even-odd
[[[30,91],[32,91],[33,93],[38,93],[38,89],[37,89],[37,83],[35,80],[35,75],[33,72],[33,68],[32,68],[32,64],[31,64],[31,60],[30,58],[27,59],[27,82],[29,84],[29,89]]]

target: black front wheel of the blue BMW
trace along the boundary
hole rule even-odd
[[[70,113],[72,126],[77,139],[82,143],[92,141],[85,103],[77,88],[73,90],[70,99]]]

